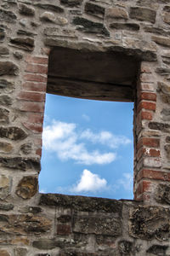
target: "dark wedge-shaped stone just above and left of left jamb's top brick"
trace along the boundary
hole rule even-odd
[[[33,38],[11,38],[10,44],[20,49],[25,49],[27,51],[32,51],[34,49],[34,39]]]

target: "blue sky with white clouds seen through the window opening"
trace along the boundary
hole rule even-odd
[[[133,103],[47,94],[39,189],[133,199]]]

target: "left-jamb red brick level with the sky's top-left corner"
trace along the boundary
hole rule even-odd
[[[31,101],[31,102],[45,102],[45,93],[38,93],[38,92],[27,92],[27,91],[20,91],[19,95],[17,96],[19,100]]]

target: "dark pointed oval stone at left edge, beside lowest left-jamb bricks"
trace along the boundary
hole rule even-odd
[[[27,137],[26,132],[19,127],[0,127],[0,137],[18,141]]]

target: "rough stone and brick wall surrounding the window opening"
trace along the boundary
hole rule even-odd
[[[170,0],[0,0],[0,57],[0,255],[170,255]],[[46,91],[134,102],[134,201],[38,193]]]

